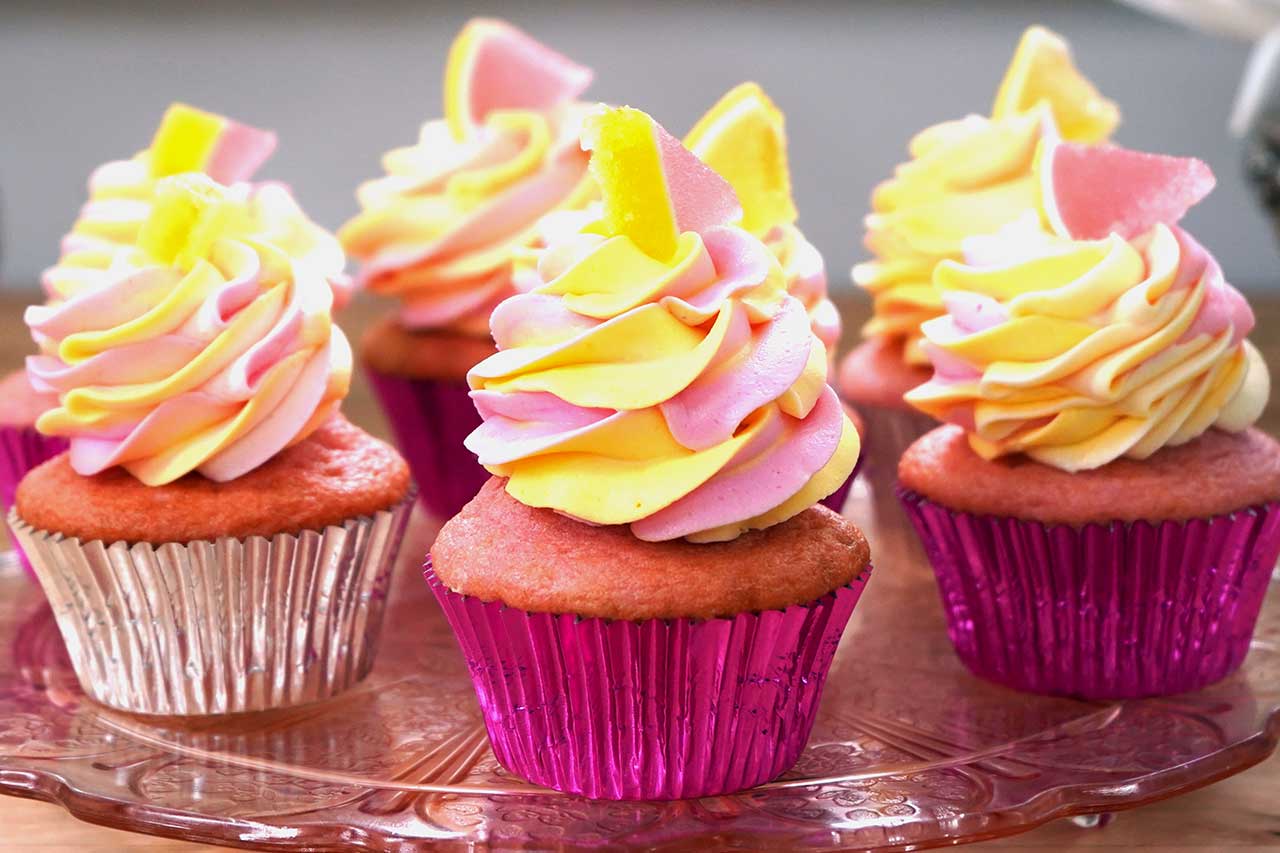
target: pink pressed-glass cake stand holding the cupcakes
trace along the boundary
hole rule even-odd
[[[876,547],[800,763],[736,797],[588,802],[493,758],[462,658],[419,573],[416,523],[374,675],[294,711],[143,720],[87,702],[52,616],[0,576],[0,792],[87,821],[275,849],[645,847],[908,849],[1019,833],[1206,785],[1267,757],[1280,708],[1280,584],[1244,667],[1202,693],[1087,703],[1021,695],[952,654],[910,534]],[[890,517],[890,516],[884,516]]]

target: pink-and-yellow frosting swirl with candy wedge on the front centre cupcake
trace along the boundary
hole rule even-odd
[[[639,110],[602,108],[582,145],[603,215],[494,311],[467,447],[522,503],[648,540],[731,539],[833,492],[858,433],[730,186]]]

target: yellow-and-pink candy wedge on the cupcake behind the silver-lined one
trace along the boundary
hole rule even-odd
[[[275,150],[275,133],[186,104],[170,106],[151,140],[151,174],[204,172],[219,183],[248,181]]]

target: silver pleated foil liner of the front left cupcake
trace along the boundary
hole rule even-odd
[[[150,544],[9,525],[90,698],[195,716],[315,702],[372,667],[412,492],[324,530]]]

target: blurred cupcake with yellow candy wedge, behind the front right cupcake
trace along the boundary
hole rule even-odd
[[[865,341],[846,356],[840,389],[867,420],[873,479],[892,480],[902,450],[933,421],[902,401],[929,378],[920,325],[943,313],[933,268],[960,260],[961,242],[995,232],[1036,206],[1032,158],[1042,138],[1106,140],[1116,106],[1075,69],[1068,44],[1032,27],[1018,45],[991,118],[969,115],[911,140],[911,160],[876,188],[867,216],[874,260],[854,266],[872,296]]]

